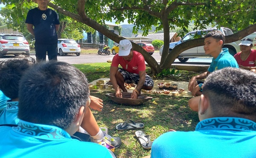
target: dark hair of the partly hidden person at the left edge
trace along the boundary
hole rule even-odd
[[[0,90],[10,99],[18,98],[23,73],[35,64],[34,58],[8,59],[0,62]]]

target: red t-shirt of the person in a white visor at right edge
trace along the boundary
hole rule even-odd
[[[256,60],[256,50],[251,49],[250,55],[245,61],[242,61],[241,59],[241,52],[234,55],[234,58],[236,59],[238,65],[246,66],[246,67],[254,67],[255,66],[255,60]]]

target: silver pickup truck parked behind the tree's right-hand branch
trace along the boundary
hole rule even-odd
[[[172,42],[169,44],[169,52],[172,51],[172,49],[176,46],[179,45],[182,42],[186,42],[188,40],[193,40],[195,37],[204,37],[208,32],[217,30],[217,28],[208,28],[206,30],[197,30],[197,31],[191,31],[188,34],[186,34],[183,39],[179,40],[178,42]],[[229,28],[223,28],[221,27],[219,29],[225,36],[233,34],[233,32]],[[247,38],[247,37],[244,37]],[[243,39],[244,39],[243,38]],[[223,48],[228,48],[228,51],[231,55],[235,55],[240,51],[239,44],[240,41],[236,42],[231,42],[224,44]],[[162,56],[163,53],[163,45],[160,48],[160,56]],[[207,55],[204,53],[204,46],[199,46],[199,47],[194,47],[190,48],[186,51],[183,51],[177,58],[179,59],[180,62],[186,62],[188,61],[189,58],[196,58],[196,57],[211,57],[210,55]]]

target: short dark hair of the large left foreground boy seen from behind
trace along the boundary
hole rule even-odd
[[[24,121],[70,127],[89,98],[84,73],[66,62],[41,62],[20,80],[18,118]]]

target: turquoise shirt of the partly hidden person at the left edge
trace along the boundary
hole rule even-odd
[[[6,109],[0,113],[0,124],[18,124],[18,104],[19,102],[6,101]]]

